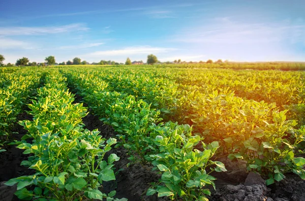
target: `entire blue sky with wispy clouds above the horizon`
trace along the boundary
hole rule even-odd
[[[305,1],[0,1],[0,54],[56,62],[305,61]]]

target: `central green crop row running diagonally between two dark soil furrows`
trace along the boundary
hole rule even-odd
[[[160,123],[160,110],[135,96],[108,89],[98,78],[79,72],[66,75],[95,114],[120,134],[121,145],[131,152],[129,159],[151,163],[162,172],[161,183],[148,189],[147,195],[158,192],[159,197],[171,199],[207,200],[210,191],[205,186],[215,188],[215,178],[209,174],[226,171],[224,164],[210,159],[219,148],[217,141],[206,145],[202,137],[192,135],[189,125]]]

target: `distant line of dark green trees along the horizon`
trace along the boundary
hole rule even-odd
[[[3,55],[0,55],[0,65],[3,65],[3,61],[5,60],[5,57]],[[227,60],[225,61],[227,62]],[[137,62],[138,64],[143,64],[143,61],[139,61]],[[162,63],[158,60],[157,56],[150,54],[147,55],[147,64],[155,64],[155,63]],[[194,63],[192,61],[190,62],[186,62],[186,61],[181,61],[181,59],[178,60],[174,60],[173,62],[164,62],[164,63]],[[197,63],[197,62],[196,62]],[[206,62],[203,61],[199,61],[199,63],[223,63],[223,61],[221,59],[217,60],[216,62],[213,62],[212,60],[207,60]],[[75,57],[72,61],[67,61],[67,62],[62,62],[62,63],[56,63],[55,61],[55,57],[54,56],[48,56],[45,58],[45,63],[37,63],[37,62],[29,62],[29,59],[26,57],[22,57],[20,59],[18,59],[15,63],[16,66],[45,66],[45,65],[87,65],[90,64],[87,61],[81,61],[80,58]],[[91,63],[92,65],[123,65],[124,63],[118,63],[115,61],[106,61],[106,60],[101,60],[100,62],[96,63],[93,62]],[[130,58],[128,57],[126,59],[125,65],[132,65],[132,62],[130,60]],[[13,64],[8,63],[6,66],[13,66]]]

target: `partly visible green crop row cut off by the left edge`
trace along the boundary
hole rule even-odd
[[[3,73],[0,78],[0,151],[12,141],[12,128],[17,123],[28,97],[36,93],[41,73]]]

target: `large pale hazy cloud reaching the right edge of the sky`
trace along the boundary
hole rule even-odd
[[[211,23],[206,25],[189,28],[187,31],[173,36],[172,41],[185,43],[253,44],[283,40],[299,41],[302,40],[300,38],[302,35],[304,38],[305,25],[285,23],[246,24],[224,17],[215,18]]]

